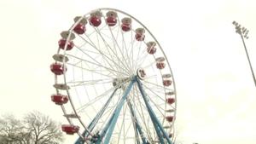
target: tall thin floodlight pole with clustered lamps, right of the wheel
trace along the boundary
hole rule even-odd
[[[247,60],[248,60],[248,63],[249,63],[249,66],[250,66],[250,69],[251,69],[251,72],[252,72],[254,85],[256,87],[256,79],[255,79],[255,75],[254,75],[254,72],[253,72],[253,66],[251,64],[251,60],[250,60],[250,57],[249,57],[248,52],[247,52],[247,46],[246,46],[245,41],[244,41],[244,37],[248,39],[247,34],[248,34],[249,31],[247,30],[247,28],[241,27],[241,25],[239,25],[236,21],[233,21],[232,24],[236,26],[236,33],[238,33],[241,36],[241,41],[243,43],[243,47],[244,47],[244,49],[246,51],[246,54],[247,54]]]

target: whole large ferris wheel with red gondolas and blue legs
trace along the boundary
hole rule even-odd
[[[95,9],[61,32],[50,66],[51,100],[61,106],[75,144],[174,141],[176,89],[160,43],[118,9]]]

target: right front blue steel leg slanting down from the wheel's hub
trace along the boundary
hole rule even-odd
[[[160,124],[158,118],[156,118],[156,116],[154,114],[154,111],[152,110],[152,107],[150,107],[150,105],[148,103],[147,95],[146,95],[146,93],[143,89],[143,86],[142,86],[143,84],[140,82],[140,80],[138,78],[136,78],[136,81],[137,81],[138,88],[139,88],[141,94],[143,95],[143,101],[146,104],[146,107],[147,107],[148,112],[149,112],[149,116],[150,116],[150,118],[151,118],[151,120],[154,124],[154,129],[156,130],[156,133],[159,137],[160,143],[165,144],[164,139],[166,139],[168,144],[172,144],[172,141],[169,139],[169,136],[166,134],[166,130],[164,130],[164,128]]]

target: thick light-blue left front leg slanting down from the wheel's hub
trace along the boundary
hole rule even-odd
[[[119,117],[119,113],[122,109],[122,107],[124,106],[125,100],[127,98],[127,96],[129,95],[130,91],[131,91],[131,87],[132,85],[135,83],[136,81],[136,77],[131,79],[131,83],[128,85],[127,89],[125,89],[124,95],[121,98],[121,100],[118,103],[118,106],[115,108],[111,118],[108,120],[108,124],[104,127],[104,129],[102,130],[102,133],[99,135],[96,144],[100,144],[102,142],[103,137],[105,137],[104,140],[104,144],[108,144],[111,138],[111,135],[113,133],[113,129],[115,127],[115,124],[117,122],[117,118]]]

